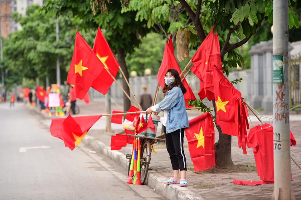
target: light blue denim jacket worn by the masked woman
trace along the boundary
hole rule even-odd
[[[185,108],[185,101],[181,88],[173,87],[166,93],[165,98],[155,105],[156,112],[166,110],[166,133],[174,132],[181,128],[188,128],[189,122]]]

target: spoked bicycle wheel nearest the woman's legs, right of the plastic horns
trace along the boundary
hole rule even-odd
[[[141,152],[140,152],[140,181],[141,184],[144,184],[148,166],[150,164],[150,142],[145,140],[141,145]]]

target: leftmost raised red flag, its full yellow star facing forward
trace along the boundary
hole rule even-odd
[[[95,78],[103,70],[103,64],[84,38],[76,31],[74,52],[67,76],[67,83],[74,85],[77,98],[84,98]]]

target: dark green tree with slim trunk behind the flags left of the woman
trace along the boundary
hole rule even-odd
[[[95,4],[103,11],[106,8],[110,10],[108,14],[98,13],[96,16],[93,15],[91,10],[90,0],[48,0],[45,2],[44,10],[56,16],[73,17],[72,22],[77,25],[80,32],[89,29],[95,30],[96,33],[97,28],[100,27],[113,53],[118,55],[119,65],[128,79],[129,73],[125,57],[128,53],[132,53],[135,47],[139,46],[141,38],[150,32],[150,29],[145,26],[144,20],[133,20],[136,12],[123,13],[119,1],[112,1],[110,4],[108,2],[110,1]],[[125,80],[123,80],[123,88],[129,94],[129,87]],[[124,110],[128,110],[129,107],[130,101],[124,95]]]

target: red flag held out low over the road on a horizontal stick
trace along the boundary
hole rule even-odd
[[[73,150],[102,115],[51,119],[50,133],[64,141],[65,146]]]

